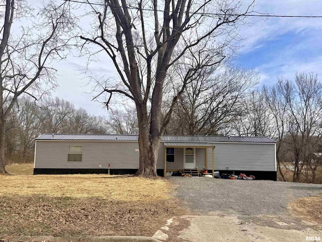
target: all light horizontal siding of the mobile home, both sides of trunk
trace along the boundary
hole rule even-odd
[[[275,143],[213,143],[215,169],[276,171]],[[68,146],[83,146],[82,162],[67,161]],[[37,140],[35,168],[61,169],[137,169],[138,142],[133,141],[42,141]],[[206,148],[196,148],[196,166],[206,166]],[[158,150],[157,169],[164,168],[165,147]],[[183,169],[184,148],[175,148],[175,162],[167,162],[167,169]],[[212,149],[208,148],[208,170],[212,167]]]

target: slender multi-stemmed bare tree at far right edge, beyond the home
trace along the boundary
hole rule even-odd
[[[294,160],[293,181],[299,181],[302,169],[312,160],[321,137],[322,84],[313,73],[297,73],[294,82],[281,80],[288,106],[288,137],[285,142]]]

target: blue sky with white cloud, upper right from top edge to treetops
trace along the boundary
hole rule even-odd
[[[321,15],[322,1],[257,1],[256,11],[274,15]],[[261,84],[296,72],[315,72],[322,78],[322,18],[250,18],[242,26],[243,47],[234,64],[255,68]]]

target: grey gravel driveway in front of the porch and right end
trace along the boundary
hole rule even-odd
[[[176,196],[192,211],[202,214],[277,215],[300,197],[322,193],[322,185],[271,180],[229,180],[170,177]]]

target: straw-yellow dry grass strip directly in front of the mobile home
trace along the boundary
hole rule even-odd
[[[118,201],[169,199],[172,191],[170,181],[164,179],[105,174],[2,175],[0,184],[0,196],[97,197]]]

